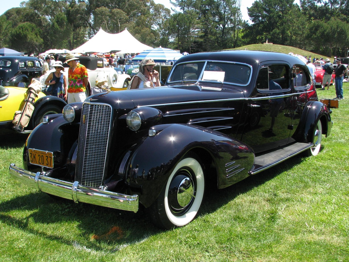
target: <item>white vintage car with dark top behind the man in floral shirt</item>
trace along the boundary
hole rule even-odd
[[[98,92],[103,92],[105,90],[119,91],[126,90],[131,77],[125,74],[121,69],[114,69],[110,67],[103,66],[103,59],[97,57],[78,57],[79,62],[86,66],[89,78],[89,87],[87,88],[87,96],[94,95]],[[58,58],[62,63],[65,61],[64,57]],[[68,79],[68,68],[66,63],[63,63],[65,68],[63,74]],[[45,75],[40,76],[40,83],[42,84],[42,89],[46,90],[45,81],[51,72],[55,69],[49,70]],[[104,82],[104,83],[103,83]],[[99,84],[98,84],[99,83]],[[101,84],[102,83],[102,84]],[[102,89],[100,88],[102,87]]]

